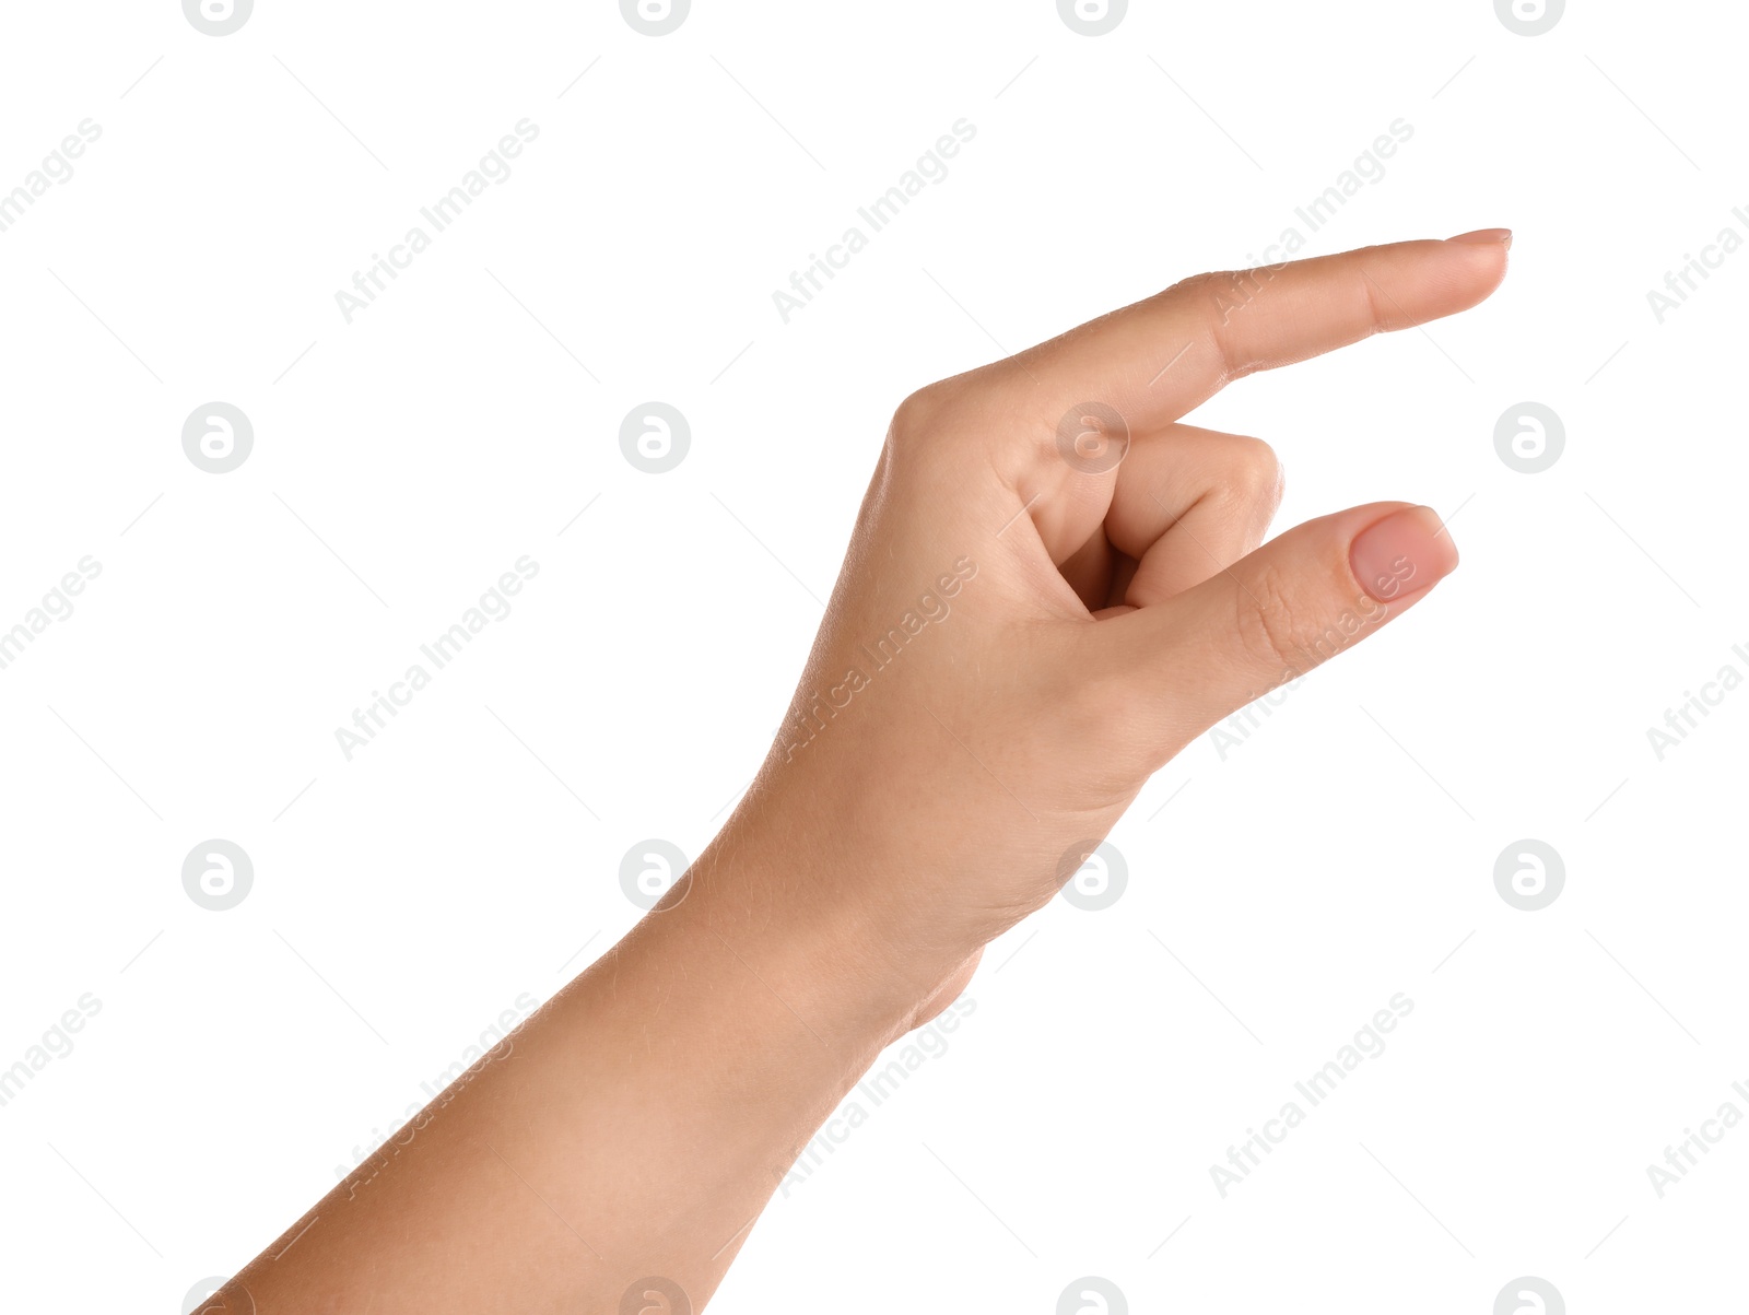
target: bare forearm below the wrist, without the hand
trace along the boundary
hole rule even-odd
[[[810,897],[834,881],[778,848],[731,824],[668,904],[238,1275],[229,1310],[247,1289],[259,1315],[476,1315],[509,1291],[525,1312],[617,1312],[651,1275],[703,1306],[798,1147],[955,967]]]

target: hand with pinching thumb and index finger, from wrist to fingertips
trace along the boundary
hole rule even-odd
[[[1153,771],[1457,565],[1438,516],[1401,502],[1259,549],[1273,453],[1181,416],[1254,371],[1474,306],[1508,243],[1203,275],[909,397],[731,834],[806,838],[819,881],[791,894],[857,906],[881,960],[951,998]]]

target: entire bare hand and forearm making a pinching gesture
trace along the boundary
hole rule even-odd
[[[874,1056],[1151,773],[1457,565],[1401,502],[1259,547],[1272,451],[1181,416],[1474,306],[1508,245],[1191,278],[906,399],[791,720],[722,832],[203,1310],[700,1310]]]

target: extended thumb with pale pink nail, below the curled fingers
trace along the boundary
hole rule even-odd
[[[1137,671],[1167,757],[1413,607],[1457,567],[1432,507],[1373,502],[1307,521],[1174,598],[1102,621]]]

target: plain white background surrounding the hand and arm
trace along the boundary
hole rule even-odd
[[[1291,226],[1307,254],[1516,231],[1476,311],[1198,416],[1277,446],[1282,525],[1422,500],[1462,568],[1240,748],[1170,764],[1112,834],[1121,901],[995,944],[948,1053],[773,1203],[712,1310],[1051,1312],[1079,1275],[1137,1312],[1480,1315],[1516,1275],[1576,1312],[1740,1301],[1749,1130],[1663,1200],[1646,1173],[1749,1112],[1749,692],[1663,761],[1646,736],[1749,673],[1749,255],[1663,324],[1646,297],[1749,236],[1740,10],[5,26],[0,191],[101,126],[0,233],[0,628],[101,563],[0,671],[0,1067],[101,1000],[0,1107],[10,1305],[180,1312],[635,922],[621,855],[696,853],[747,783],[901,397]],[[346,324],[353,271],[521,119],[509,180]],[[771,292],[958,119],[950,175],[784,324]],[[1397,119],[1310,233],[1296,206]],[[619,451],[652,399],[693,430],[663,476]],[[254,423],[231,474],[182,451],[210,400]],[[1523,400],[1565,421],[1544,474],[1495,455]],[[336,727],[523,554],[511,616],[346,761]],[[182,888],[208,838],[255,867],[226,913]],[[1565,860],[1541,913],[1494,887],[1522,838]],[[1223,1200],[1210,1165],[1397,991],[1389,1049]]]

